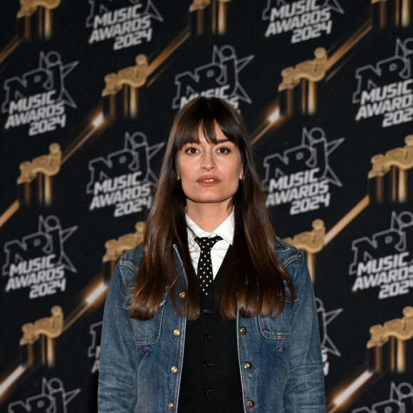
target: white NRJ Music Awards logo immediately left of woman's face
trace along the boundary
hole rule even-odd
[[[86,187],[86,193],[93,194],[89,209],[115,206],[115,217],[150,209],[157,184],[150,160],[163,146],[162,142],[150,147],[142,132],[126,132],[122,150],[91,160]]]

